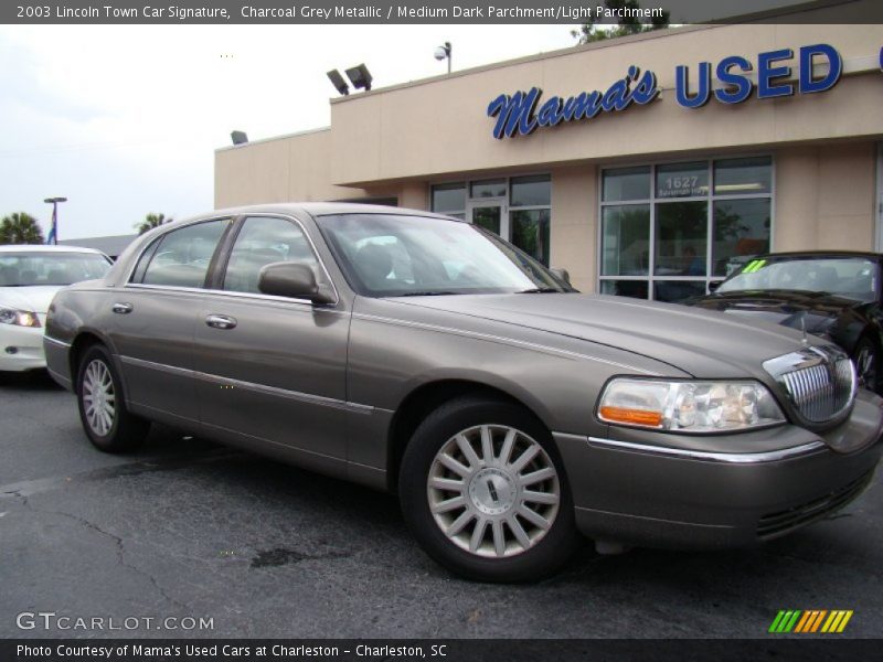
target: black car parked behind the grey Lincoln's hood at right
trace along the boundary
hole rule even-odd
[[[881,393],[881,259],[844,250],[762,255],[711,295],[683,303],[833,341],[855,362],[860,384]]]

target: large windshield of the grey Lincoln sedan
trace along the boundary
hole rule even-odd
[[[318,221],[360,295],[574,291],[514,246],[467,223],[393,214],[341,214]]]

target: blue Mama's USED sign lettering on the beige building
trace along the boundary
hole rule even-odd
[[[714,67],[714,76],[721,83],[716,89],[712,85],[712,63],[699,63],[695,89],[690,87],[689,67],[678,65],[674,70],[674,98],[684,108],[701,108],[712,97],[722,104],[741,104],[755,92],[758,99],[791,96],[796,92],[812,94],[831,89],[843,72],[842,57],[828,44],[799,50],[796,82],[792,67],[783,64],[792,58],[791,49],[766,51],[757,55],[755,70],[754,64],[741,55],[724,57]],[[816,77],[813,66],[821,62],[827,62],[828,72]],[[542,96],[542,89],[531,87],[528,92],[496,97],[488,105],[488,117],[497,120],[493,137],[530,136],[541,127],[592,119],[603,113],[619,113],[634,104],[646,106],[659,96],[659,87],[653,72],[641,73],[637,66],[630,66],[623,78],[604,92],[581,92],[567,98],[552,96],[545,100]]]

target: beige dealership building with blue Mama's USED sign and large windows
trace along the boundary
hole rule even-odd
[[[333,98],[330,127],[219,149],[215,206],[430,210],[583,291],[660,300],[762,252],[881,250],[883,29],[776,20]]]

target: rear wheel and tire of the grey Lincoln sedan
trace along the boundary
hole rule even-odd
[[[93,446],[113,453],[141,446],[150,423],[126,409],[119,375],[103,345],[94,345],[83,355],[76,394],[79,420]]]

